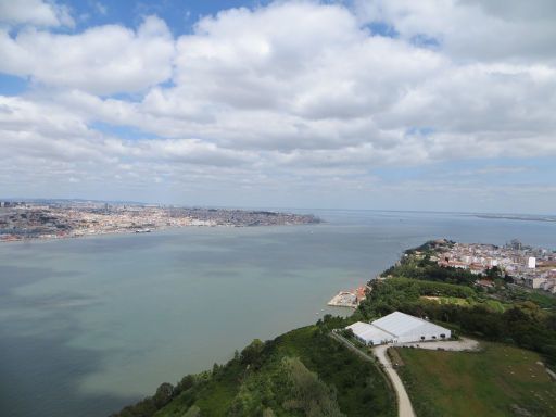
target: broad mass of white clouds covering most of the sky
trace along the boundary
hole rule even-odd
[[[278,2],[177,39],[155,16],[137,30],[4,30],[0,71],[34,86],[0,100],[4,168],[39,164],[84,186],[379,193],[413,185],[382,187],[377,167],[554,156],[553,8],[501,4]],[[369,22],[400,36],[372,36]]]

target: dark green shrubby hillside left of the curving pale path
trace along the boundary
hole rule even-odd
[[[375,364],[328,334],[345,320],[253,341],[212,371],[185,377],[156,406],[154,397],[118,417],[156,416],[394,416],[395,397]]]

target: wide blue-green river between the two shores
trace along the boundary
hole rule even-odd
[[[0,415],[105,416],[314,323],[431,238],[556,248],[556,224],[315,212],[328,223],[0,244]]]

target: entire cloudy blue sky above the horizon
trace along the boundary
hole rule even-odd
[[[556,213],[553,0],[0,0],[0,198]]]

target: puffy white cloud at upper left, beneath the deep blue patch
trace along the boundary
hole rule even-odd
[[[0,71],[30,76],[56,88],[100,94],[144,90],[172,75],[174,40],[164,23],[148,16],[137,31],[117,25],[61,35],[0,31]]]

